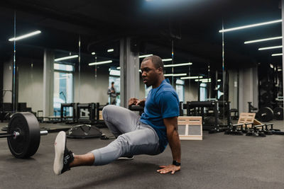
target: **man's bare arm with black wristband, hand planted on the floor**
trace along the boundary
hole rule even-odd
[[[180,149],[180,137],[178,135],[178,117],[165,118],[163,119],[165,127],[167,128],[167,137],[170,144],[170,149],[173,155],[173,161],[180,163],[181,160],[181,149]],[[158,170],[160,173],[172,174],[176,171],[180,171],[180,166],[168,165],[160,166],[161,169]]]

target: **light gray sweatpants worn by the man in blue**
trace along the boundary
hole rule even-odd
[[[160,154],[158,134],[140,122],[140,116],[126,108],[107,105],[102,116],[109,130],[117,137],[107,147],[94,149],[94,166],[111,163],[121,156]]]

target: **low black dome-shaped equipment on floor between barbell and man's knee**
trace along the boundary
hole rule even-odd
[[[94,125],[77,125],[67,131],[66,137],[71,139],[91,139],[102,136],[102,132]]]

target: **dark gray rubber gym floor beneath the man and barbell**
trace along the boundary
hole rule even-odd
[[[283,121],[273,122],[275,128],[284,130]],[[109,134],[106,128],[102,131]],[[282,135],[246,137],[204,132],[202,141],[181,142],[182,170],[174,175],[156,172],[159,165],[172,161],[167,147],[158,156],[77,167],[55,176],[56,134],[42,136],[37,153],[30,159],[14,158],[6,139],[0,139],[0,188],[284,188]],[[83,154],[109,142],[111,139],[67,139],[67,147]]]

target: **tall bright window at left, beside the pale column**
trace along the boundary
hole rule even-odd
[[[60,115],[61,103],[73,102],[74,66],[54,64],[53,110],[54,115]],[[66,109],[66,115],[72,115],[72,108]]]

